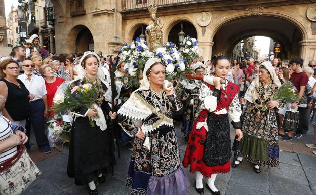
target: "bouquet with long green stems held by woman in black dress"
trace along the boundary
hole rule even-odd
[[[91,83],[74,87],[68,85],[63,95],[56,93],[53,99],[52,110],[59,115],[65,115],[69,110],[91,109],[97,98],[98,91],[98,86]],[[90,126],[95,126],[93,119],[90,119]]]

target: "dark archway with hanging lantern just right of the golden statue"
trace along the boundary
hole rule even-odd
[[[178,47],[180,46],[179,32],[181,31],[181,24],[182,31],[185,33],[185,36],[190,35],[191,37],[198,39],[198,32],[196,31],[193,24],[187,21],[179,21],[171,28],[168,34],[168,42],[173,42]]]

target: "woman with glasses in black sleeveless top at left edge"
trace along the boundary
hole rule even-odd
[[[0,95],[7,100],[1,111],[11,122],[25,128],[26,118],[30,112],[29,100],[34,99],[34,95],[30,94],[25,85],[17,79],[19,71],[20,67],[16,61],[10,57],[1,58]]]

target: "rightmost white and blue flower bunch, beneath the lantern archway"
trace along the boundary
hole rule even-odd
[[[198,40],[188,35],[180,45],[183,59],[185,59],[188,65],[187,68],[189,68],[192,61],[199,58]]]

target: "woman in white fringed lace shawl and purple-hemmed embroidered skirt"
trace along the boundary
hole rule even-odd
[[[157,58],[144,67],[140,88],[117,112],[120,125],[136,136],[127,175],[131,194],[187,195],[189,181],[181,165],[173,114],[182,104],[171,90],[163,88],[166,70]]]

